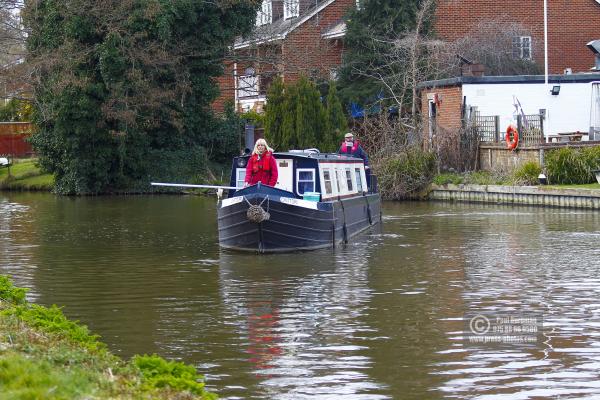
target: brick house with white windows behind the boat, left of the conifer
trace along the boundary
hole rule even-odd
[[[220,111],[234,100],[238,111],[262,112],[275,76],[285,82],[301,74],[335,78],[342,62],[342,18],[355,1],[263,0],[252,34],[234,43],[236,61],[225,63],[213,108]]]

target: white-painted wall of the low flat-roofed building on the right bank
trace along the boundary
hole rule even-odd
[[[549,86],[552,88],[550,83]],[[525,114],[548,109],[544,121],[546,135],[590,129],[591,83],[560,83],[560,94],[553,96],[544,83],[463,84],[467,108],[477,106],[481,115],[499,115],[500,130],[517,123],[513,95],[521,102]],[[585,138],[585,137],[584,137]]]

